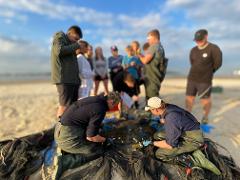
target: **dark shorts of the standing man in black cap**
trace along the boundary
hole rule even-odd
[[[198,83],[194,81],[187,82],[187,96],[198,96],[201,99],[209,98],[211,95],[211,83]]]

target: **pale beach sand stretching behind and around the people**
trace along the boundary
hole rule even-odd
[[[240,165],[240,79],[215,79],[213,85],[224,90],[212,94],[210,124],[214,129],[206,136],[226,147]],[[160,93],[167,102],[184,107],[185,87],[186,79],[166,78]],[[0,84],[0,140],[52,127],[57,121],[57,106],[57,90],[50,82]],[[199,99],[193,114],[202,117]]]

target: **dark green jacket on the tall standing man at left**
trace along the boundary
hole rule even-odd
[[[77,56],[78,43],[72,43],[63,32],[53,37],[51,80],[54,84],[80,84]]]

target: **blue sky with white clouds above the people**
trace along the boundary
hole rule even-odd
[[[159,29],[169,71],[186,74],[194,33],[209,32],[223,52],[218,74],[240,69],[239,0],[0,0],[0,74],[50,72],[55,32],[79,25],[83,39],[110,55]]]

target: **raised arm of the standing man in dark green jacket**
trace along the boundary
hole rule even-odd
[[[64,44],[63,35],[61,37],[55,37],[53,40],[53,51],[57,56],[66,56],[74,54],[75,51],[80,48],[80,45],[76,42],[70,45]]]

